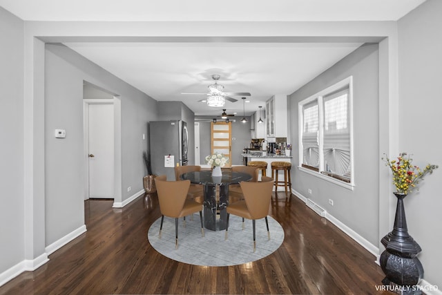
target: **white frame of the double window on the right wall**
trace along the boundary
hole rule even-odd
[[[339,180],[337,178],[334,178],[329,175],[325,175],[324,173],[321,173],[325,171],[325,161],[324,161],[324,110],[323,110],[323,97],[329,95],[330,93],[334,93],[342,88],[345,88],[348,86],[349,89],[349,97],[348,97],[348,104],[349,104],[349,133],[350,133],[350,182],[345,182],[343,180]],[[318,115],[319,115],[319,131],[318,131],[318,144],[319,144],[319,171],[315,171],[312,169],[308,169],[302,166],[303,162],[303,151],[304,147],[302,146],[302,133],[304,131],[303,128],[303,106],[306,104],[309,104],[310,102],[314,101],[315,99],[318,99]],[[329,86],[325,88],[323,91],[320,91],[314,95],[311,95],[310,97],[307,97],[306,99],[303,99],[301,102],[298,103],[298,142],[299,142],[299,166],[298,169],[302,172],[308,173],[310,175],[314,175],[318,178],[321,178],[323,180],[327,180],[328,182],[332,182],[334,184],[338,184],[341,187],[345,187],[346,189],[354,190],[355,182],[354,182],[354,148],[353,148],[353,77],[347,77],[343,79],[342,81]]]

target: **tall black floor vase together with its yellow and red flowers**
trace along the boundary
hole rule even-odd
[[[412,158],[407,153],[400,153],[396,160],[390,160],[385,155],[382,160],[392,171],[393,184],[396,187],[394,196],[397,198],[393,230],[381,239],[385,247],[379,258],[379,264],[385,274],[382,283],[406,290],[417,285],[423,278],[423,266],[416,257],[422,251],[421,246],[408,234],[403,199],[414,188],[419,189],[417,184],[423,177],[433,173],[439,166],[427,164],[424,169],[420,169],[412,164]]]

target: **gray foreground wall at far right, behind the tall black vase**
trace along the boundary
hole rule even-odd
[[[413,154],[414,163],[439,164],[405,198],[410,235],[422,247],[424,279],[442,287],[442,1],[428,0],[398,21],[399,149]]]

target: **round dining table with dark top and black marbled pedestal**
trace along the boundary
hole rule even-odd
[[[229,184],[238,184],[252,179],[247,173],[223,170],[222,176],[212,176],[212,171],[191,171],[183,173],[182,180],[202,184],[204,188],[204,227],[223,230],[227,224],[227,206],[229,205]],[[219,213],[219,218],[217,218]]]

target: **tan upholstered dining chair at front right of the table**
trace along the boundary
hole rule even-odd
[[[227,206],[227,225],[225,239],[229,229],[230,214],[242,217],[242,228],[244,229],[244,218],[251,219],[253,225],[253,252],[256,250],[256,222],[255,220],[265,218],[267,226],[267,237],[270,240],[269,222],[267,213],[273,190],[273,178],[263,176],[261,182],[240,182],[244,200],[234,202]]]

